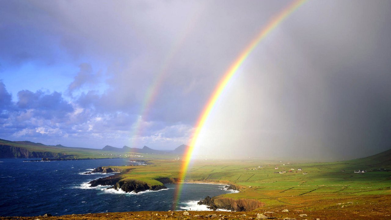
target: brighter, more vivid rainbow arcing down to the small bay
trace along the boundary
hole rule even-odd
[[[254,38],[254,40],[251,41],[251,43],[243,50],[243,52],[238,56],[238,58],[233,62],[230,66],[230,68],[225,72],[224,76],[222,77],[221,81],[213,91],[212,96],[209,98],[208,103],[204,107],[204,110],[202,114],[200,115],[197,126],[195,126],[195,131],[192,135],[192,138],[190,139],[190,142],[188,143],[188,150],[185,153],[185,157],[182,160],[181,170],[179,171],[179,179],[183,182],[187,175],[187,170],[190,164],[190,160],[192,158],[192,154],[194,151],[194,146],[197,144],[197,139],[199,134],[201,133],[201,130],[205,124],[205,122],[208,120],[208,117],[210,113],[213,110],[213,107],[215,106],[215,103],[221,96],[222,92],[224,91],[224,88],[226,85],[230,82],[230,80],[233,78],[239,67],[242,65],[242,63],[246,60],[246,58],[251,54],[251,52],[255,49],[255,47],[271,32],[273,29],[275,29],[285,18],[287,18],[290,14],[292,14],[296,9],[298,9],[302,4],[304,4],[306,0],[296,0],[289,4],[286,8],[284,8],[276,17],[274,17],[271,21],[267,23],[267,26],[264,27],[259,34]],[[174,195],[174,204],[172,208],[175,210],[179,198],[181,197],[181,191],[183,188],[183,184],[179,184],[179,186],[176,188],[176,193]]]

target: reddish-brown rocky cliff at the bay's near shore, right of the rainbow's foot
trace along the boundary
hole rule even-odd
[[[252,211],[265,205],[264,202],[260,202],[256,199],[233,199],[226,197],[206,197],[204,200],[198,202],[199,205],[206,205],[208,208],[227,209],[231,211]]]

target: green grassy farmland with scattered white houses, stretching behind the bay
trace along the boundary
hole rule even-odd
[[[391,172],[370,171],[379,168],[391,170],[389,157],[386,156],[390,152],[362,159],[327,163],[195,160],[188,170],[185,181],[235,184],[242,188],[240,193],[221,197],[254,198],[265,202],[265,207],[271,209],[285,206],[310,210],[339,209],[342,206],[339,203],[345,204],[344,206],[356,206],[362,205],[369,198],[391,195]],[[151,165],[137,166],[123,173],[122,177],[127,180],[142,180],[149,184],[157,184],[156,179],[162,177],[179,177],[180,160],[150,162]],[[299,171],[299,168],[302,170]],[[354,173],[354,170],[368,172],[359,174]],[[274,173],[276,171],[286,173]]]

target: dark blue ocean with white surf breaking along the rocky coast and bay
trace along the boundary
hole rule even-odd
[[[23,162],[0,159],[0,216],[70,215],[125,211],[168,211],[177,184],[167,189],[124,193],[88,182],[113,173],[85,175],[99,166],[121,166],[128,159]],[[206,196],[232,193],[219,184],[184,184],[178,210],[208,210],[197,202]]]

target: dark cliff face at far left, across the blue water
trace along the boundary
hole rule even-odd
[[[52,152],[42,152],[42,151],[28,151],[24,148],[18,148],[15,146],[9,146],[0,144],[0,156],[1,157],[18,157],[18,158],[27,158],[27,157],[60,157],[63,156],[63,153],[52,153]]]

